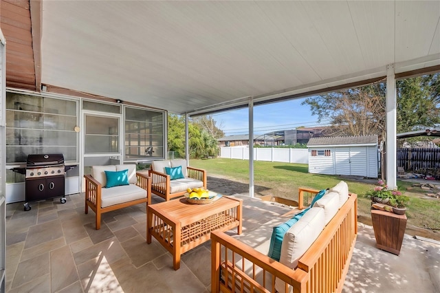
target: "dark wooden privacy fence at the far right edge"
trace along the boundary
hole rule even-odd
[[[405,171],[440,169],[440,149],[397,149],[397,166]],[[421,172],[420,172],[421,173]]]

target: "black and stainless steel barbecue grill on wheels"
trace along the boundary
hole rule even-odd
[[[31,209],[29,202],[53,197],[61,197],[61,203],[65,204],[65,171],[62,153],[28,155],[24,210]]]

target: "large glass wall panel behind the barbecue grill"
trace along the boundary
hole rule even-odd
[[[65,160],[78,161],[76,103],[7,93],[7,164],[26,162],[31,153],[63,153]]]

